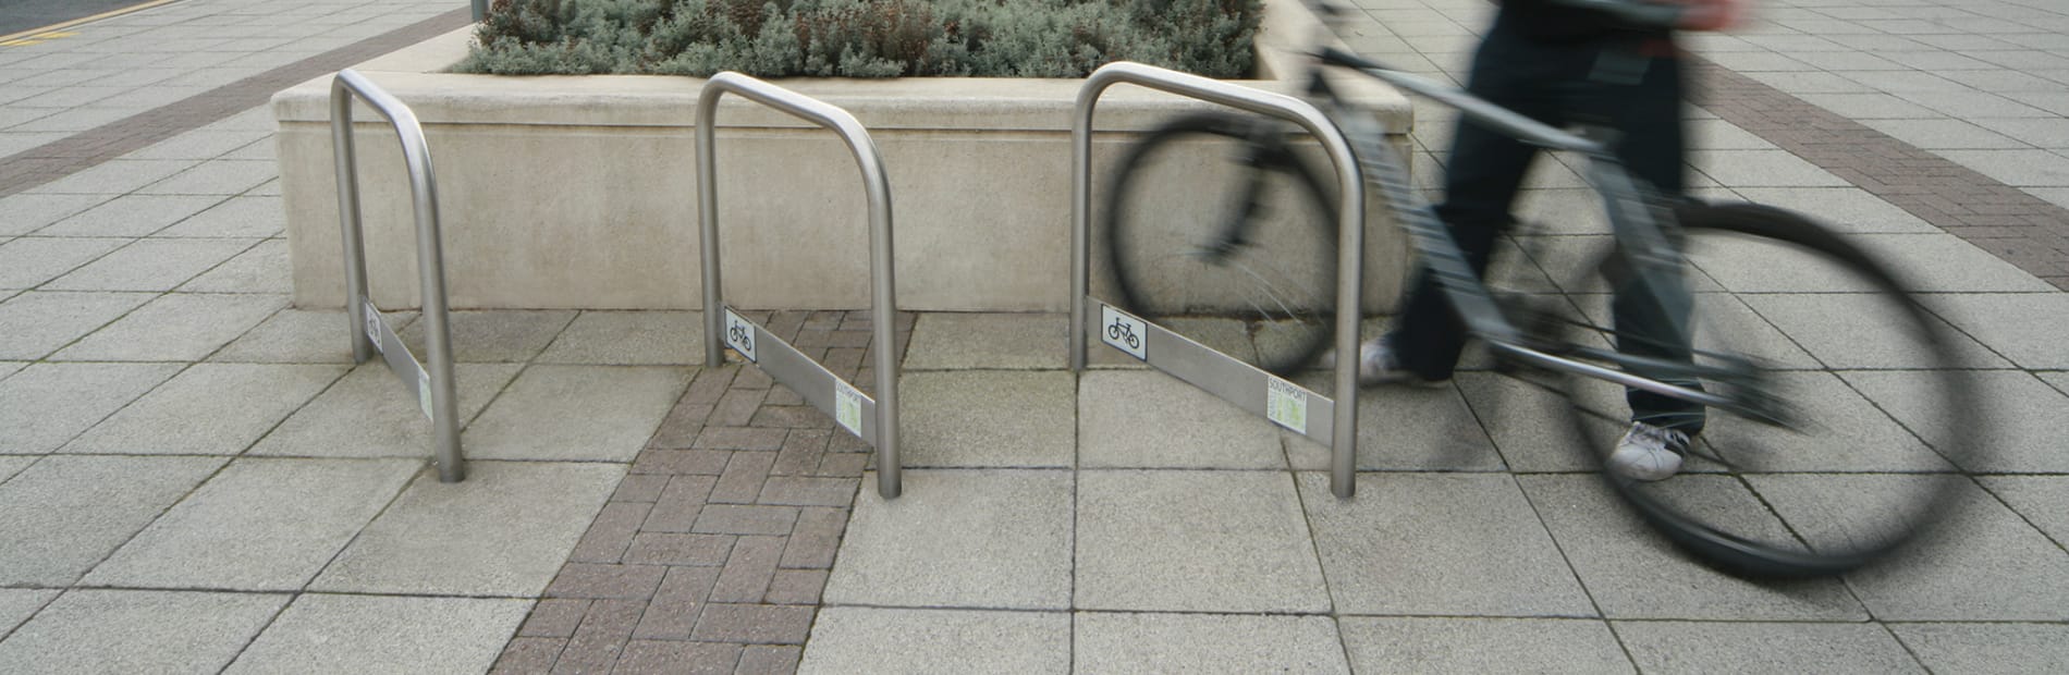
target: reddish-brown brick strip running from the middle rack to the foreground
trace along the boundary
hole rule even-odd
[[[869,313],[749,319],[871,389]],[[492,673],[794,673],[869,458],[761,371],[699,371]]]

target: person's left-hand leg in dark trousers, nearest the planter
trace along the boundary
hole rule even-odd
[[[1496,25],[1473,56],[1467,91],[1531,118],[1556,122],[1556,99],[1539,87],[1543,60],[1533,52],[1537,50],[1523,37]],[[1467,120],[1459,122],[1444,170],[1444,203],[1436,207],[1436,215],[1444,219],[1473,273],[1486,273],[1494,240],[1512,222],[1508,207],[1535,153],[1535,147],[1512,137]],[[1401,366],[1421,379],[1446,379],[1457,366],[1459,352],[1465,350],[1465,323],[1428,269],[1415,275],[1386,342]]]

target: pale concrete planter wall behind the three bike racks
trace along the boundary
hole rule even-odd
[[[1272,35],[1308,35],[1297,2],[1272,2]],[[424,124],[437,166],[455,309],[697,309],[695,101],[681,77],[482,77],[439,72],[472,29],[356,66]],[[1264,72],[1287,72],[1264,52]],[[1070,273],[1070,124],[1080,81],[780,81],[852,112],[888,170],[898,304],[914,311],[1061,311]],[[1291,83],[1252,81],[1291,91]],[[1355,89],[1386,128],[1407,99]],[[1115,87],[1099,108],[1095,182],[1121,145],[1204,104]],[[329,77],[273,97],[298,306],[341,306]],[[416,306],[416,236],[393,133],[368,108],[360,190],[374,302]],[[867,294],[861,178],[840,141],[728,97],[718,112],[718,190],[728,302],[859,309]],[[1397,137],[1405,145],[1405,135]],[[1378,199],[1374,203],[1374,213]],[[1403,238],[1368,230],[1368,298],[1399,288]],[[1097,259],[1097,255],[1095,255]],[[1095,292],[1103,286],[1095,267]]]

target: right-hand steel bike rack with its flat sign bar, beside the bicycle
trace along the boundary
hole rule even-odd
[[[1337,193],[1343,195],[1339,205],[1341,226],[1337,228],[1341,232],[1341,240],[1337,242],[1337,306],[1351,309],[1337,313],[1335,402],[1090,296],[1092,112],[1099,106],[1101,93],[1117,83],[1285,118],[1308,128],[1308,133],[1322,141],[1328,159],[1337,164]],[[1349,354],[1357,354],[1357,309],[1363,306],[1359,280],[1363,277],[1361,253],[1366,251],[1366,195],[1357,159],[1351,155],[1351,145],[1337,130],[1337,124],[1308,101],[1289,95],[1157,66],[1115,62],[1092,70],[1092,77],[1078,89],[1078,114],[1070,135],[1070,369],[1084,373],[1086,331],[1092,331],[1107,346],[1140,358],[1157,371],[1183,379],[1279,427],[1328,445],[1328,489],[1337,497],[1351,497],[1357,491],[1357,358]],[[1095,311],[1099,313],[1097,323],[1090,321],[1090,313]]]

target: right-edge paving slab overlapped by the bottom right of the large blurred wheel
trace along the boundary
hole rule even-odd
[[[1858,489],[1839,487],[1837,495]],[[1833,487],[1765,485],[1761,495],[1798,526],[1823,528],[1808,513],[1819,499],[1833,499]],[[2069,553],[1974,487],[1955,495],[1922,542],[1846,582],[1883,621],[2069,619]]]

